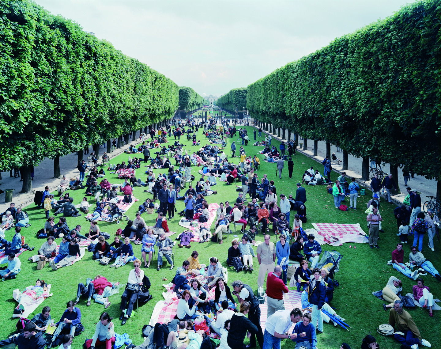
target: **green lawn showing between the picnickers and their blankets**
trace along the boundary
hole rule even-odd
[[[253,139],[253,128],[247,127],[250,139]],[[264,136],[264,135],[263,135]],[[264,138],[264,137],[262,137]],[[181,138],[182,140],[183,138]],[[205,136],[201,133],[198,135],[198,139],[201,139],[202,145],[206,144]],[[237,138],[229,139],[236,140]],[[173,137],[172,140],[174,141]],[[191,146],[190,142],[183,142],[188,144],[184,149],[188,150],[189,154],[195,151],[199,146]],[[247,150],[247,155],[257,154],[262,147],[252,146],[253,142],[249,142],[248,146],[245,146]],[[273,145],[278,147],[279,142],[275,139],[272,141]],[[229,154],[230,145],[228,144],[226,149],[226,154]],[[111,159],[111,163],[120,163],[121,161],[127,161],[128,155],[121,154],[116,158]],[[259,158],[263,158],[259,156]],[[239,158],[234,158],[235,163],[239,163]],[[277,193],[284,193],[285,195],[293,194],[295,195],[296,186],[295,184],[301,181],[302,174],[305,169],[310,166],[317,168],[320,173],[323,173],[323,166],[318,162],[304,156],[303,154],[297,153],[293,157],[295,163],[293,178],[289,179],[288,169],[284,169],[282,179],[279,179],[274,173],[276,171],[276,165],[266,163],[261,161],[261,167],[257,171],[259,178],[262,177],[264,173],[268,174],[269,179],[275,181],[277,187]],[[173,161],[174,162],[174,161]],[[144,163],[142,163],[141,169],[137,170],[137,177],[145,179],[142,174],[144,172]],[[196,178],[200,175],[197,173],[200,168],[192,168],[193,174]],[[162,172],[162,170],[157,170],[155,173]],[[338,176],[337,173],[333,173],[331,179],[336,180]],[[111,183],[120,183],[120,180],[116,179],[114,174],[106,176]],[[216,189],[218,195],[211,195],[206,197],[208,203],[220,203],[225,200],[234,202],[237,198],[237,192],[235,191],[235,186],[227,186],[220,182],[217,184]],[[136,187],[134,188],[134,196],[138,198],[142,203],[143,199],[146,199],[144,193],[144,188]],[[360,223],[361,227],[367,232],[366,229],[366,214],[364,210],[366,209],[366,203],[371,198],[371,192],[366,191],[366,196],[362,196],[358,199],[357,206],[359,207],[356,211],[349,210],[343,212],[336,210],[333,205],[333,197],[328,194],[326,187],[321,186],[306,186],[307,194],[307,218],[308,222],[304,225],[304,228],[312,228],[311,222],[333,222],[333,223]],[[79,203],[81,198],[84,196],[83,190],[71,191],[71,196],[74,197],[75,203]],[[150,197],[150,195],[148,196]],[[347,203],[348,204],[348,203]],[[349,204],[347,205],[349,206]],[[404,293],[412,292],[412,285],[415,285],[414,281],[405,277],[403,274],[398,273],[396,270],[392,269],[391,266],[387,265],[386,262],[391,259],[391,251],[395,249],[396,243],[398,242],[398,237],[395,235],[397,233],[396,229],[396,219],[393,216],[393,209],[395,205],[389,205],[381,203],[380,209],[381,214],[384,218],[383,229],[384,233],[380,234],[381,240],[379,241],[380,249],[370,249],[368,244],[356,244],[357,249],[349,248],[349,244],[344,244],[340,247],[332,247],[329,245],[322,246],[323,250],[337,250],[344,257],[340,263],[340,271],[336,274],[336,279],[340,282],[340,287],[337,287],[334,293],[334,299],[331,305],[337,308],[337,313],[346,319],[346,322],[352,326],[351,331],[346,331],[340,326],[334,327],[332,324],[324,325],[324,333],[318,334],[318,347],[319,348],[339,348],[342,342],[347,342],[352,348],[358,348],[361,340],[366,334],[373,334],[382,348],[399,348],[400,345],[392,340],[392,338],[386,338],[377,334],[376,327],[379,324],[387,323],[389,314],[385,312],[382,308],[382,301],[374,297],[371,292],[382,289],[387,280],[391,275],[400,278],[403,281],[403,291]],[[178,212],[183,210],[183,201],[178,201],[177,203]],[[135,212],[138,209],[138,203],[135,203],[127,214],[130,218],[135,218]],[[30,246],[36,246],[35,251],[41,246],[45,240],[37,240],[35,237],[35,232],[41,229],[45,223],[45,214],[43,210],[37,210],[34,204],[27,206],[25,210],[30,215],[30,223],[32,226],[27,229],[22,229],[22,235],[26,236],[26,243]],[[142,217],[146,220],[147,225],[153,225],[156,214],[148,215],[143,214]],[[291,222],[294,218],[294,214],[291,214]],[[172,221],[168,222],[170,230],[176,231],[178,233],[183,231],[183,228],[178,225],[179,216],[176,215]],[[82,225],[82,233],[86,233],[89,228],[89,222],[85,221],[84,215],[78,218],[67,218],[69,227],[72,229],[77,224]],[[125,221],[121,221],[120,225],[113,223],[99,223],[102,231],[107,231],[111,234],[111,240],[116,232],[116,229],[123,228]],[[213,226],[212,226],[213,228]],[[11,231],[7,231],[6,237],[11,240]],[[174,239],[176,236],[172,236]],[[262,235],[256,236],[256,240],[262,240]],[[272,241],[274,241],[274,236],[272,236]],[[225,241],[226,242],[226,241]],[[59,243],[59,242],[58,242]],[[353,244],[352,244],[353,245]],[[225,260],[227,258],[227,250],[230,245],[224,243],[219,245],[217,243],[204,243],[204,244],[193,244],[194,248],[199,252],[199,260],[201,263],[208,264],[208,259],[210,257],[217,257],[226,266]],[[410,252],[411,244],[407,244],[404,247],[405,261],[407,261],[407,255]],[[255,249],[255,248],[254,248]],[[436,252],[430,251],[427,248],[427,236],[424,239],[423,253],[427,259],[430,259],[435,267],[440,267],[439,259],[439,242],[435,241]],[[141,256],[141,245],[134,245],[135,255],[140,258]],[[51,307],[51,315],[53,319],[58,321],[63,311],[65,310],[65,305],[68,300],[75,300],[76,290],[78,282],[85,282],[86,278],[93,278],[97,274],[102,274],[109,281],[120,281],[125,284],[127,282],[127,277],[131,265],[121,267],[117,270],[114,268],[109,268],[108,266],[103,266],[98,264],[96,261],[92,260],[92,254],[86,252],[86,256],[78,263],[73,266],[62,268],[58,271],[53,271],[48,265],[43,270],[37,270],[37,263],[30,263],[27,259],[33,255],[33,252],[26,251],[20,255],[20,260],[22,261],[22,271],[19,273],[15,280],[7,280],[0,283],[0,292],[4,295],[4,303],[0,304],[1,314],[5,316],[4,326],[0,328],[0,338],[6,338],[8,335],[12,334],[15,330],[16,319],[13,319],[12,311],[16,306],[15,300],[12,298],[13,289],[24,289],[26,286],[34,284],[37,278],[44,279],[48,284],[52,284],[53,296],[45,300],[36,311],[30,315],[30,318],[41,311],[43,306],[49,305]],[[177,249],[175,256],[176,266],[182,264],[184,259],[187,259],[190,255],[190,251],[187,249]],[[150,316],[153,311],[153,307],[156,301],[163,299],[162,292],[164,288],[161,281],[163,276],[167,277],[168,280],[172,280],[176,270],[168,270],[168,268],[161,269],[157,272],[156,260],[152,262],[152,266],[149,269],[143,269],[146,275],[150,278],[152,287],[150,292],[153,295],[153,300],[149,301],[147,304],[142,305],[138,312],[134,312],[135,316],[127,321],[124,326],[120,325],[118,317],[120,315],[120,294],[116,294],[109,299],[112,305],[108,308],[108,312],[116,318],[115,321],[115,331],[116,333],[123,334],[128,333],[130,338],[135,344],[140,344],[143,341],[141,337],[142,326],[149,323]],[[258,276],[258,263],[255,263],[255,271],[253,274],[236,274],[234,270],[230,270],[229,283],[236,279],[242,279],[243,281],[249,283],[257,292],[257,276]],[[440,296],[440,283],[436,281],[431,275],[424,277],[426,285],[430,287],[430,291],[434,294],[435,298]],[[92,338],[95,329],[95,324],[98,321],[99,315],[104,310],[101,304],[92,303],[90,307],[86,307],[86,299],[82,298],[79,302],[79,308],[82,311],[82,324],[85,326],[86,330],[80,336],[75,337],[73,348],[78,349],[81,347],[83,341],[86,338]],[[410,310],[415,323],[419,327],[422,333],[422,337],[426,340],[432,342],[432,346],[436,346],[435,341],[440,338],[440,326],[436,325],[440,319],[440,315],[437,311],[434,311],[434,317],[430,318],[427,310],[422,308],[416,308],[415,310]],[[282,341],[282,345],[286,348],[294,348],[291,342]]]

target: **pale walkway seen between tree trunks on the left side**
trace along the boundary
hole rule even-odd
[[[137,131],[137,141],[134,141],[134,143],[139,142],[139,131]],[[131,137],[129,137],[131,139]],[[110,162],[112,162],[112,158],[123,153],[124,150],[126,150],[132,142],[129,141],[128,144],[122,146],[120,149],[116,149],[115,151],[110,153]],[[89,148],[89,154],[92,152],[92,147]],[[107,145],[103,148],[101,146],[100,151],[98,153],[99,158],[101,160],[101,156],[104,154],[104,152],[107,151]],[[89,156],[89,154],[84,155],[84,160]],[[68,154],[64,157],[60,157],[60,173],[61,177],[63,175],[66,175],[67,178],[76,177],[79,176],[79,171],[75,167],[78,161],[78,155],[75,153]],[[101,163],[101,161],[98,161]],[[32,181],[32,190],[37,191],[41,190],[44,191],[46,186],[49,186],[51,188],[51,191],[58,187],[60,184],[61,178],[53,178],[54,176],[54,161],[45,158],[45,160],[41,161],[38,166],[34,167],[34,180]],[[14,171],[12,171],[12,174],[14,174]],[[27,203],[34,202],[34,193],[33,194],[21,194],[20,191],[22,190],[22,182],[20,182],[20,177],[14,178],[10,177],[9,171],[2,172],[1,173],[2,180],[0,181],[0,189],[3,191],[5,189],[14,189],[13,196],[12,196],[12,202],[15,203],[15,207],[18,206],[26,206]],[[8,207],[10,207],[10,203],[5,203],[5,194],[0,195],[0,213],[4,212]]]

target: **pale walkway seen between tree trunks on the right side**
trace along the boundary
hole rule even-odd
[[[251,124],[251,123],[250,123]],[[262,133],[266,133],[266,134],[270,134],[273,138],[281,141],[281,137],[277,137],[274,136],[272,133],[269,133],[267,131],[262,131]],[[282,134],[282,132],[280,131],[280,134]],[[285,131],[285,135],[288,136],[288,131]],[[294,137],[294,135],[291,133],[291,136]],[[258,137],[257,137],[258,138]],[[262,137],[265,138],[265,137]],[[283,139],[285,142],[287,141],[286,139]],[[299,140],[299,143],[303,143],[303,139]],[[308,139],[307,140],[307,150],[303,150],[303,149],[299,149],[297,148],[298,151],[300,151],[301,153],[309,156],[310,158],[314,158],[317,161],[319,161],[321,163],[321,161],[323,161],[323,159],[326,157],[326,143],[325,142],[318,142],[318,149],[317,149],[317,156],[314,156],[314,140],[313,139]],[[339,158],[340,160],[343,160],[343,153],[337,152],[337,147],[331,145],[331,154],[335,153],[337,158]],[[355,177],[356,179],[360,179],[361,178],[361,169],[362,169],[362,162],[363,159],[362,158],[355,158],[353,155],[348,154],[348,169],[345,170],[346,175],[349,177]],[[343,163],[340,163],[340,165],[337,165],[336,163],[334,163],[332,165],[333,169],[336,170],[337,172],[341,172],[343,169]],[[381,164],[381,168],[383,170],[383,172],[385,173],[389,173],[390,170],[390,165],[386,164],[385,166],[383,166]],[[323,166],[321,166],[321,170],[320,173],[323,175]],[[400,176],[401,175],[401,176]],[[396,181],[396,178],[395,178]],[[401,194],[399,195],[392,195],[392,199],[395,199],[396,201],[399,202],[403,202],[404,198],[407,195],[407,191],[406,191],[406,186],[404,186],[404,179],[402,176],[402,172],[401,169],[398,169],[398,184],[400,186],[400,191]],[[366,180],[366,185],[370,186],[370,180]],[[415,175],[415,178],[410,178],[410,180],[407,181],[407,186],[413,188],[416,188],[418,191],[421,192],[421,202],[424,203],[427,200],[430,200],[427,196],[436,196],[437,193],[437,181],[436,180],[428,180],[423,176],[417,176]]]

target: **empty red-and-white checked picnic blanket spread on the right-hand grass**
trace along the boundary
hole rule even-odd
[[[366,233],[357,224],[312,223],[317,233],[323,236],[326,244],[341,246],[345,242],[368,242]]]

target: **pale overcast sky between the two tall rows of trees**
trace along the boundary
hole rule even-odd
[[[246,87],[409,1],[35,0],[199,94]]]

